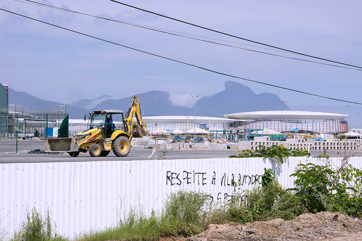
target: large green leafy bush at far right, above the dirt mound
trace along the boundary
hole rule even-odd
[[[345,215],[359,217],[362,212],[361,178],[362,172],[353,166],[342,165],[334,171],[327,165],[312,163],[299,164],[296,172],[290,176],[295,181],[296,195],[300,205],[308,211],[342,212]]]

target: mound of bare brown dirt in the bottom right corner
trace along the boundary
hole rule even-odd
[[[337,216],[338,215],[338,216]],[[362,220],[341,213],[320,212],[303,214],[290,221],[246,223],[245,225],[216,225],[185,241],[292,241],[292,240],[362,240]]]

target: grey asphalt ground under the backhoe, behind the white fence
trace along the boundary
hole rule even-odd
[[[80,153],[77,157],[71,157],[68,153],[63,154],[30,154],[30,153],[0,153],[1,163],[26,163],[26,162],[75,162],[75,161],[132,161],[132,160],[154,160],[155,154],[148,158],[153,149],[144,147],[132,147],[129,155],[126,157],[117,157],[110,152],[107,157],[91,157],[89,153]],[[162,149],[156,150],[156,159],[162,158],[160,155]],[[323,150],[310,151],[312,157],[317,157],[323,154]],[[203,150],[203,149],[168,149],[164,158],[168,160],[177,159],[204,159],[204,158],[227,158],[231,155],[237,155],[238,150]],[[344,156],[362,156],[361,150],[327,150],[327,155],[330,157]]]

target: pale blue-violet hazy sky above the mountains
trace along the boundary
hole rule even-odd
[[[362,103],[362,71],[355,67],[276,51],[109,0],[38,0],[38,3],[92,16],[24,0],[1,0],[0,8],[227,75]],[[361,0],[124,0],[122,3],[259,43],[362,66]],[[119,45],[0,10],[0,83],[43,100],[62,103],[104,94],[115,99],[161,90],[171,94],[174,104],[191,107],[194,104],[191,95],[210,96],[224,90],[225,81],[235,81],[249,86],[256,94],[277,94],[288,102],[291,110],[349,115],[351,109],[350,126],[355,128],[358,120],[362,128],[362,105],[224,76]]]

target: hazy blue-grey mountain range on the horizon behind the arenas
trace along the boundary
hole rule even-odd
[[[136,94],[140,101],[141,114],[147,116],[159,115],[194,115],[195,105],[191,108],[174,105],[169,100],[170,94],[164,91],[152,90],[145,93]],[[92,110],[116,109],[127,111],[131,105],[132,96],[113,100],[111,96],[100,96],[93,100],[83,99],[66,105],[64,103],[41,100],[31,96],[26,92],[18,92],[9,88],[9,104],[22,105],[25,108],[48,109],[58,105],[66,105],[70,119],[81,119],[84,114]],[[90,103],[98,103],[92,108]],[[285,110],[286,106],[280,98],[271,93],[256,94],[248,86],[240,83],[226,81],[225,90],[212,96],[202,97],[196,102],[196,115],[207,117],[224,117],[224,114],[248,112],[248,111],[266,111],[266,110]],[[289,107],[287,107],[289,110]]]

